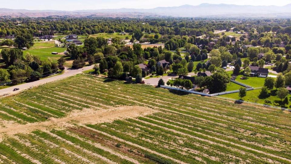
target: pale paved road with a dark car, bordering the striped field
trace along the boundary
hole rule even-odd
[[[84,68],[81,68],[81,69],[67,69],[66,68],[65,72],[62,75],[54,75],[52,77],[49,77],[49,78],[46,78],[46,79],[41,79],[41,80],[38,80],[38,81],[35,81],[35,82],[28,82],[28,83],[21,84],[21,85],[16,85],[16,86],[12,86],[12,87],[5,88],[5,89],[0,89],[0,96],[4,95],[4,94],[12,95],[12,94],[15,94],[15,93],[18,93],[18,92],[22,92],[25,89],[29,89],[30,87],[36,87],[38,85],[42,85],[42,84],[45,84],[45,83],[48,83],[48,82],[53,82],[53,81],[56,81],[56,80],[60,80],[60,79],[64,79],[64,78],[67,78],[67,77],[70,77],[70,76],[74,76],[76,74],[82,73],[82,71],[93,69],[93,67],[94,67],[94,65],[91,65],[91,66],[88,66],[88,67],[84,67]],[[19,90],[12,91],[14,88],[19,88]]]

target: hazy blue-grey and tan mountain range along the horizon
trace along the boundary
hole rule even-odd
[[[178,7],[157,7],[152,9],[98,9],[98,10],[25,10],[0,8],[0,16],[12,17],[45,17],[58,16],[96,16],[96,17],[144,17],[144,16],[173,16],[173,17],[290,17],[291,4],[285,6],[253,6],[209,4],[182,5]]]

